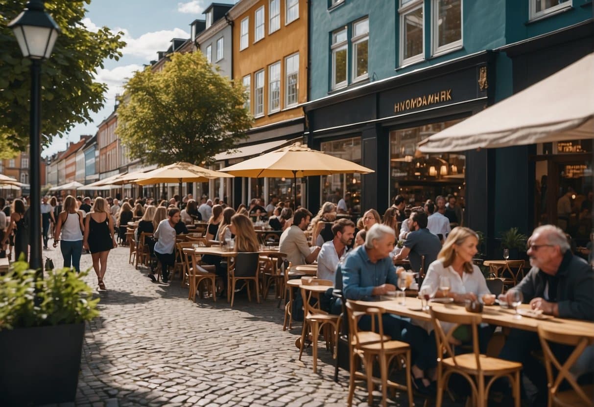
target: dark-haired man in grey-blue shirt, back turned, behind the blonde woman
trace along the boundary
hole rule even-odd
[[[416,272],[426,273],[429,265],[437,259],[441,250],[440,239],[427,228],[425,212],[412,212],[408,221],[411,232],[406,235],[405,247],[394,260],[410,259],[410,268]],[[425,256],[425,264],[421,265],[421,256]]]

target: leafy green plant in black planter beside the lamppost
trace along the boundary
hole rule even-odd
[[[99,298],[69,268],[36,272],[15,262],[0,278],[0,401],[2,405],[72,402],[84,323]]]

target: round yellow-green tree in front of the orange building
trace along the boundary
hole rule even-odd
[[[147,67],[125,85],[116,132],[132,159],[210,163],[245,138],[252,123],[245,97],[201,52],[174,53],[162,70]]]

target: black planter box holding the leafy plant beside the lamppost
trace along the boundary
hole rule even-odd
[[[0,331],[0,405],[73,402],[84,323]]]

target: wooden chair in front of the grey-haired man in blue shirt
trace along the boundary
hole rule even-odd
[[[366,380],[367,382],[367,403],[373,405],[373,364],[377,360],[380,365],[380,381],[382,398],[381,403],[386,406],[388,387],[394,387],[408,393],[409,406],[413,406],[412,379],[410,377],[410,345],[406,342],[392,341],[384,335],[383,314],[386,310],[381,307],[368,307],[346,301],[346,309],[349,319],[349,338],[350,338],[350,380],[349,380],[349,398],[347,404],[352,405],[353,395],[355,393],[355,380]],[[359,329],[359,320],[362,317],[371,318],[371,330]],[[375,327],[377,325],[377,328]],[[402,358],[406,366],[406,386],[394,381],[388,380],[388,366],[396,358]],[[356,370],[357,359],[363,361],[365,374]]]

